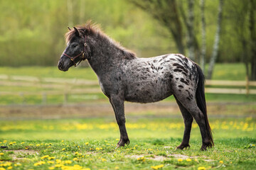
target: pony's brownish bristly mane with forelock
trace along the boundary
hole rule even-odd
[[[120,45],[119,42],[113,40],[109,36],[107,36],[100,28],[100,25],[92,23],[91,21],[87,21],[84,25],[75,26],[79,30],[82,35],[95,35],[96,37],[108,40],[110,43],[114,44],[119,50],[122,51],[124,58],[134,59],[136,58],[136,54],[131,50],[127,50],[125,47]],[[65,41],[69,42],[72,38],[75,37],[75,29],[71,29],[68,33],[65,33]]]

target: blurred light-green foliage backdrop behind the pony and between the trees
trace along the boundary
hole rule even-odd
[[[240,13],[244,11],[241,4],[243,2],[237,0],[232,1],[232,5],[224,6],[219,62],[241,61],[244,49],[238,30],[244,33],[245,40],[248,37],[248,31],[240,27],[244,25],[237,23],[237,16],[242,16]],[[89,19],[100,23],[110,37],[137,52],[139,57],[153,57],[178,51],[168,29],[127,0],[72,1],[73,13],[68,12],[67,5],[67,1],[62,0],[1,0],[0,66],[55,65],[65,48],[63,35],[67,31],[68,23],[77,25]],[[186,11],[187,1],[178,1],[178,5],[183,6]],[[215,33],[217,6],[216,0],[206,1],[208,57]],[[197,0],[195,30],[200,44],[199,14]],[[242,18],[239,21],[243,21]],[[186,33],[182,36],[185,40]]]

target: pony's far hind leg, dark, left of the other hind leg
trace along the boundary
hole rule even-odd
[[[185,124],[183,140],[181,142],[181,145],[178,145],[178,147],[177,147],[177,149],[183,149],[186,147],[190,147],[190,145],[188,143],[189,143],[190,134],[191,134],[191,126],[192,126],[192,122],[193,122],[193,117],[192,117],[191,113],[189,113],[186,110],[186,108],[184,108],[182,103],[180,101],[178,101],[178,98],[176,98],[176,96],[174,96],[174,97],[176,99],[176,102],[178,103],[178,107],[181,110],[181,114],[182,114],[184,124]]]

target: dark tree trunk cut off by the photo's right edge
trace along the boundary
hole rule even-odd
[[[251,80],[256,80],[256,30],[255,30],[255,0],[250,0],[250,16],[249,16],[249,30],[250,30],[250,50],[251,50]]]

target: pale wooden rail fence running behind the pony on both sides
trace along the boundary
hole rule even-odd
[[[21,96],[41,95],[42,103],[46,103],[48,95],[63,95],[64,103],[71,94],[101,93],[98,81],[86,79],[38,78],[25,76],[7,76],[0,74],[0,86],[38,87],[43,91],[0,91],[2,95]],[[256,94],[256,81],[223,81],[206,80],[208,94]]]

